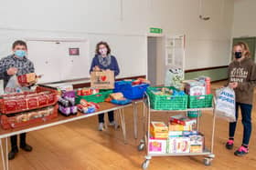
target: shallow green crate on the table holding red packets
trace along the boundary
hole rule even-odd
[[[80,100],[84,99],[87,102],[101,103],[112,94],[112,90],[101,90],[100,93],[95,95],[76,95],[76,105],[80,104]]]

